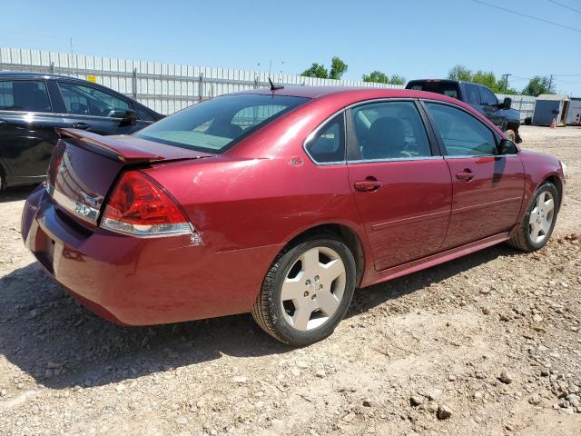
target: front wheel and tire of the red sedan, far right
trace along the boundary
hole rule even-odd
[[[547,205],[549,200],[552,200],[552,209]],[[535,252],[544,247],[555,228],[560,201],[553,183],[541,184],[527,206],[517,234],[508,240],[508,244],[523,252]]]

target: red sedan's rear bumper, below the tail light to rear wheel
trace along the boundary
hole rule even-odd
[[[87,309],[128,325],[248,312],[279,245],[213,251],[189,235],[136,238],[83,232],[37,188],[22,235],[44,269]]]

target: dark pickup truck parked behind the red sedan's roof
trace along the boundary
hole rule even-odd
[[[522,142],[518,134],[520,113],[510,107],[512,100],[507,97],[502,103],[498,103],[497,96],[483,84],[448,79],[421,79],[409,81],[406,89],[428,91],[458,98],[458,100],[474,107],[480,114],[501,128],[507,134],[508,139],[517,144]]]

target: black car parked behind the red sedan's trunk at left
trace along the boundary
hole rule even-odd
[[[163,115],[100,84],[40,73],[0,72],[0,190],[39,183],[55,127],[133,134]]]

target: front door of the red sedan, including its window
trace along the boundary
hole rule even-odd
[[[520,158],[498,155],[497,134],[463,108],[425,105],[452,175],[454,201],[445,247],[507,232],[517,223],[523,201]]]

